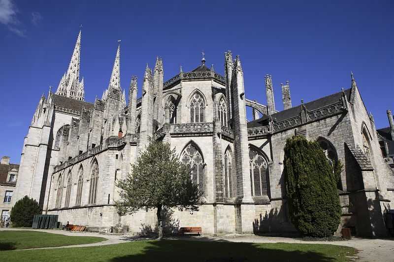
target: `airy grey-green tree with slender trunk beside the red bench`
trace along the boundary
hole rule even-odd
[[[122,213],[157,208],[159,238],[163,235],[162,209],[197,211],[200,198],[197,184],[191,179],[191,169],[179,161],[175,149],[168,143],[151,142],[141,152],[131,174],[117,182]]]

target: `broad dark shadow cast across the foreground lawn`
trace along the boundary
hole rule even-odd
[[[201,238],[199,239],[201,240]],[[229,241],[150,241],[138,254],[119,256],[111,262],[123,261],[187,261],[187,262],[334,262],[324,252],[297,248],[288,243],[234,243]]]

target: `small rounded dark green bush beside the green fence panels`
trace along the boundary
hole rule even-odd
[[[11,209],[11,222],[13,227],[31,227],[34,215],[41,214],[37,201],[28,196],[18,200]]]

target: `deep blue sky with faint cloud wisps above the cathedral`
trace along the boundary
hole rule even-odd
[[[275,2],[275,3],[274,3]],[[290,81],[293,105],[350,87],[353,71],[378,128],[394,110],[394,1],[14,1],[0,0],[0,156],[20,161],[42,93],[56,87],[82,24],[81,77],[87,101],[108,86],[121,39],[121,85],[138,85],[163,57],[164,78],[192,70],[205,51],[224,72],[240,55],[245,92],[265,103],[271,74],[276,107]]]

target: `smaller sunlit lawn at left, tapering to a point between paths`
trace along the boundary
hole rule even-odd
[[[68,236],[38,231],[0,231],[0,251],[89,244],[104,240],[106,238],[96,236]],[[1,252],[0,257],[2,254]]]

